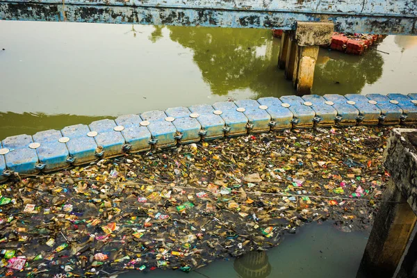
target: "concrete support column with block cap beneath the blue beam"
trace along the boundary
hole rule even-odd
[[[281,38],[278,65],[285,68],[286,79],[292,79],[298,95],[311,92],[318,47],[332,40],[332,22],[297,22],[295,31],[286,31]]]

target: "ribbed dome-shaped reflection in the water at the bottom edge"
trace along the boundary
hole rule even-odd
[[[241,278],[265,278],[271,273],[271,265],[265,251],[252,251],[234,261],[234,270]]]

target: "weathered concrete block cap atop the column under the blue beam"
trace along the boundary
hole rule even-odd
[[[333,22],[297,22],[295,40],[300,47],[330,44],[333,32]]]

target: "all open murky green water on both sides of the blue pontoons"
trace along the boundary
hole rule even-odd
[[[313,93],[416,92],[417,37],[389,36],[378,49],[386,53],[320,49]],[[293,95],[278,53],[279,39],[265,30],[0,21],[0,138],[173,106]],[[313,224],[256,258],[268,277],[355,277],[366,236]],[[242,265],[259,272],[218,261],[187,277],[253,277]]]

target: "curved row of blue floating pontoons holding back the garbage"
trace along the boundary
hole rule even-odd
[[[224,101],[124,115],[61,131],[11,136],[0,144],[0,181],[18,172],[37,174],[125,152],[143,152],[224,136],[313,126],[417,123],[417,93],[305,95]]]

